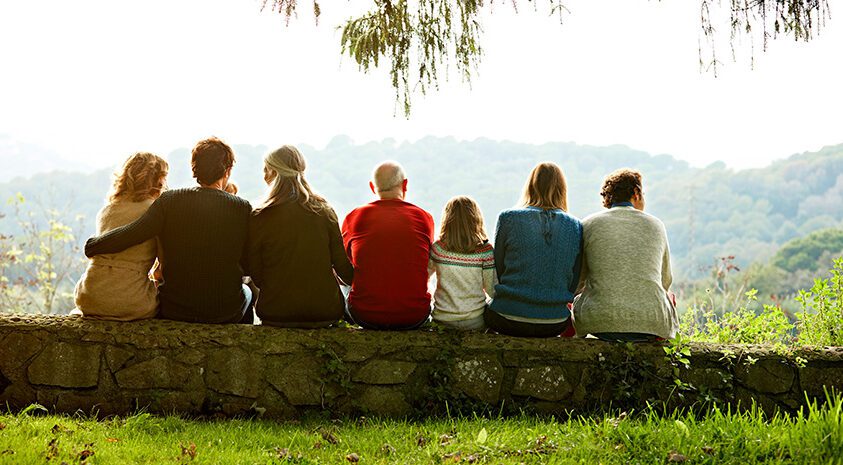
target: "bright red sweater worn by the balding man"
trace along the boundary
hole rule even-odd
[[[356,316],[400,326],[430,314],[430,213],[399,199],[376,200],[345,217],[342,238],[354,265],[348,303]]]

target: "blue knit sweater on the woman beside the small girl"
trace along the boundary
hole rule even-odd
[[[490,308],[503,316],[569,318],[579,281],[582,223],[562,210],[504,210],[495,233],[499,284]]]

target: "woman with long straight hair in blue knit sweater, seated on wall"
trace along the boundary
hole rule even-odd
[[[498,217],[499,284],[484,320],[509,336],[573,334],[568,304],[579,281],[582,223],[567,213],[568,189],[559,166],[545,162],[533,168],[521,204]]]

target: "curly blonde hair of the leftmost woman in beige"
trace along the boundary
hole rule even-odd
[[[138,152],[123,163],[123,169],[114,176],[108,202],[118,200],[140,202],[155,199],[164,190],[164,178],[170,165],[158,155]]]

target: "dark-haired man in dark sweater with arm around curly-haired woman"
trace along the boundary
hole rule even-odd
[[[199,186],[161,194],[134,223],[92,237],[85,255],[115,253],[158,237],[164,283],[159,317],[199,323],[251,323],[252,293],[242,284],[249,202],[225,192],[234,152],[217,138],[193,148]]]

